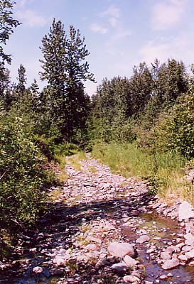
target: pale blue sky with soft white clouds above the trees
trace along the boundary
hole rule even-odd
[[[131,77],[134,65],[158,58],[194,63],[193,0],[16,0],[13,17],[22,24],[14,29],[6,52],[12,55],[11,79],[18,67],[26,68],[28,85],[39,80],[43,36],[53,18],[79,29],[90,52],[87,62],[97,83],[86,82],[87,94],[95,94],[104,77]]]

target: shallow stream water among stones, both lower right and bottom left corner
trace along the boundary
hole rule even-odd
[[[110,209],[109,209],[110,211]],[[111,213],[109,213],[111,214]],[[175,236],[180,234],[180,226],[176,221],[172,219],[166,219],[163,217],[158,217],[156,214],[140,214],[139,217],[132,217],[132,224],[137,226],[139,230],[146,228],[151,237],[150,242],[156,246],[157,250],[161,251],[166,247],[166,243],[172,242],[176,244]],[[165,230],[164,230],[165,229]],[[125,236],[126,241],[135,241],[137,236],[135,231],[129,229],[128,227],[123,227],[122,235]],[[161,238],[156,240],[155,238]],[[138,257],[141,263],[144,264],[145,279],[151,283],[163,283],[163,284],[185,284],[194,283],[194,267],[190,266],[178,266],[168,271],[163,271],[160,265],[158,265],[156,259],[151,259],[148,253],[146,253],[148,246],[146,244],[141,244],[137,246]],[[43,263],[43,259],[36,258],[36,263]],[[171,273],[173,276],[166,280],[161,280],[160,275],[166,275]],[[23,278],[10,279],[8,281],[0,280],[1,284],[56,284],[60,277],[50,277],[48,270],[45,268],[42,277],[40,275],[33,276],[31,273],[26,274]],[[158,282],[159,281],[159,282]],[[80,283],[82,284],[82,283]]]

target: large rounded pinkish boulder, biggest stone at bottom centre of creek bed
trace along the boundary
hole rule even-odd
[[[129,243],[117,243],[116,241],[109,244],[108,251],[112,256],[123,258],[124,256],[134,256],[134,247]]]

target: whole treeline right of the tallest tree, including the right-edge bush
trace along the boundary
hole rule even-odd
[[[194,155],[193,79],[183,62],[134,67],[131,78],[104,79],[92,97],[93,138]],[[97,129],[97,131],[95,131]],[[154,143],[153,143],[154,140]]]

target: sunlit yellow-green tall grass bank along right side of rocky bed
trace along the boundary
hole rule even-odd
[[[135,144],[97,144],[92,155],[126,178],[149,180],[153,193],[169,202],[181,197],[193,203],[191,185],[184,179],[186,160],[176,152],[148,153]]]

